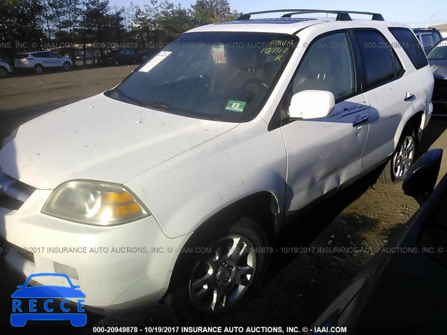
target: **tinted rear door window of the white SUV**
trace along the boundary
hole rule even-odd
[[[390,43],[373,30],[354,31],[363,65],[366,86],[372,87],[395,77],[395,64]]]

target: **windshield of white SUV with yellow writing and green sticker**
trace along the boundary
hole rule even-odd
[[[247,121],[258,114],[297,43],[284,34],[184,34],[107,95],[189,117]]]

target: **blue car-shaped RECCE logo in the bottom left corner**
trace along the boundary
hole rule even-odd
[[[64,282],[64,285],[28,286],[32,279],[43,276],[59,277],[52,279],[59,279],[59,283]],[[13,298],[11,325],[14,327],[23,327],[27,324],[27,320],[70,320],[71,325],[75,327],[87,324],[87,315],[83,308],[85,294],[80,290],[80,286],[73,285],[66,274],[31,274],[24,285],[19,285],[17,288],[18,290],[11,295]],[[76,308],[73,308],[73,302],[67,298],[77,299]],[[38,313],[37,307],[43,307],[45,313]]]

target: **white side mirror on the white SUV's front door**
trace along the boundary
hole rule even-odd
[[[292,96],[288,115],[291,119],[327,117],[335,107],[334,94],[329,91],[301,91]]]

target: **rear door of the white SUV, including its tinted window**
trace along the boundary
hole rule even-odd
[[[405,70],[392,43],[380,31],[354,29],[353,34],[364,68],[362,89],[370,106],[369,134],[362,159],[362,170],[367,170],[393,154],[397,128],[402,116],[413,111],[416,92],[408,77],[403,78]]]

